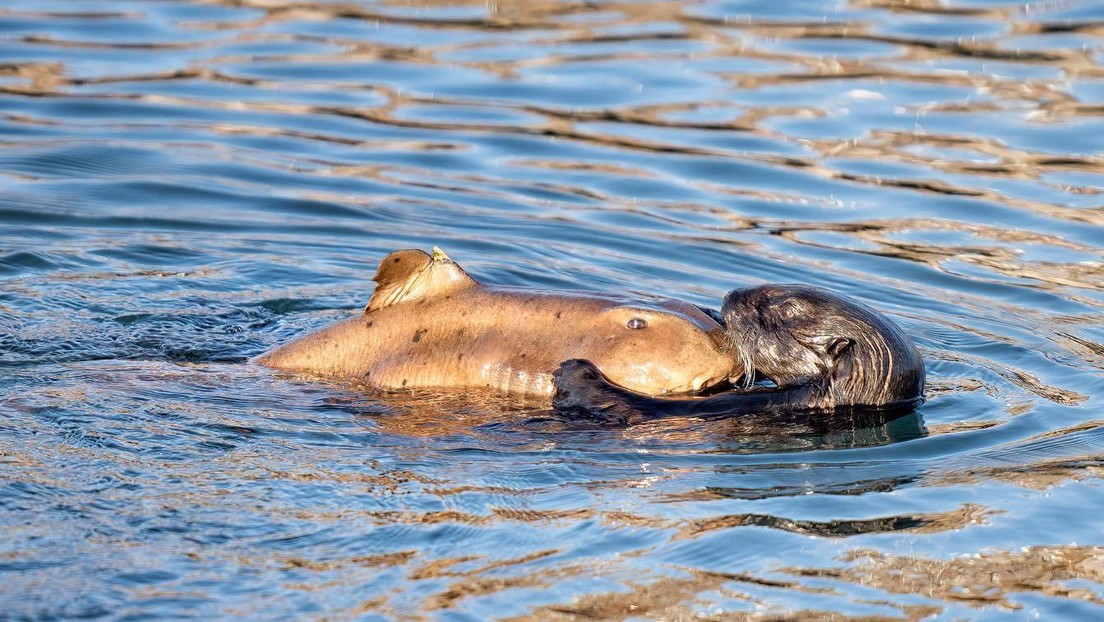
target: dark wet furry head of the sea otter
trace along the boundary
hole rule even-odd
[[[733,289],[721,307],[747,386],[755,372],[779,388],[813,389],[813,408],[915,403],[924,363],[895,324],[811,285]]]

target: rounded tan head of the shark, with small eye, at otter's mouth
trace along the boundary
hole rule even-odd
[[[679,301],[609,306],[582,339],[578,358],[611,382],[649,396],[700,391],[743,373],[721,325]]]

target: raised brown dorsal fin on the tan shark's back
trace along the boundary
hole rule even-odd
[[[365,313],[477,285],[464,268],[436,246],[432,256],[417,249],[391,253],[380,262],[372,281],[376,283],[375,293],[368,302]]]

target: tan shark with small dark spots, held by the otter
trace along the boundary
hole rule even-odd
[[[575,358],[649,396],[743,373],[722,327],[680,301],[482,285],[439,249],[392,253],[373,281],[363,313],[255,361],[381,389],[490,387],[544,399],[552,372]]]

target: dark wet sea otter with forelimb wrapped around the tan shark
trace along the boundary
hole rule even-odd
[[[572,419],[630,425],[666,417],[906,412],[923,402],[912,339],[870,307],[810,285],[762,285],[724,297],[721,317],[743,386],[688,399],[643,396],[587,360],[554,375],[553,405]],[[755,384],[765,379],[773,386]]]

